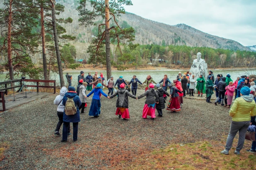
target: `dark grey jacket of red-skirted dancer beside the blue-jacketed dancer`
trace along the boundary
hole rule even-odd
[[[116,100],[117,108],[128,108],[128,96],[130,96],[131,98],[136,98],[126,89],[118,89],[116,93],[110,96],[110,98],[114,98],[116,95],[118,95],[118,98]]]

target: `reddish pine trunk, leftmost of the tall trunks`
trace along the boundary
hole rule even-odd
[[[8,53],[8,64],[9,64],[9,75],[10,79],[14,79],[13,75],[13,66],[12,66],[12,42],[11,42],[11,36],[12,36],[12,0],[10,0],[10,6],[9,6],[9,18],[8,18],[8,37],[7,37],[7,53]]]

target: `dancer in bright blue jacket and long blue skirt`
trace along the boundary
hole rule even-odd
[[[92,104],[89,111],[89,116],[99,117],[100,108],[101,108],[100,97],[99,97],[100,94],[109,98],[109,96],[102,91],[101,87],[102,87],[101,83],[97,84],[97,86],[85,97],[87,98],[91,96],[92,93],[94,93],[94,95],[92,96]]]

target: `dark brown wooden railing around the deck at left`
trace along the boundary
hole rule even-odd
[[[53,88],[54,94],[56,93],[56,80],[36,80],[36,79],[24,79],[25,82],[36,82],[36,85],[27,85],[27,87],[36,87],[36,91],[39,92],[39,88]],[[12,86],[12,83],[20,82],[17,86]],[[54,83],[53,86],[39,86],[39,82],[43,83]],[[7,85],[10,84],[10,87],[7,87]],[[10,81],[2,81],[0,82],[0,85],[5,85],[4,89],[0,89],[0,97],[2,100],[0,100],[0,103],[2,103],[3,111],[5,111],[5,95],[8,94],[8,90],[21,87],[22,86],[22,79],[16,79],[16,80],[10,80]]]

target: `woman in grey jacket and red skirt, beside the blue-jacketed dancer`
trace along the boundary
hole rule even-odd
[[[119,116],[119,118],[123,118],[123,120],[130,119],[129,115],[129,109],[128,109],[128,96],[135,98],[134,95],[128,92],[128,90],[124,89],[126,85],[124,83],[120,84],[120,89],[116,91],[113,95],[110,96],[110,98],[114,98],[116,95],[118,95],[116,100],[116,115]]]

